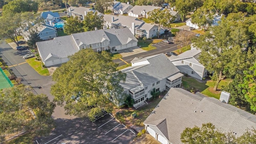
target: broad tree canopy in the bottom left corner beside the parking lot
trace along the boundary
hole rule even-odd
[[[31,88],[20,85],[0,91],[0,137],[14,132],[32,131],[38,136],[55,127],[52,113],[55,104],[44,94],[34,95]],[[34,114],[30,112],[32,110]]]

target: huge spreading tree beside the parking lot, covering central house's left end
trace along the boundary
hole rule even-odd
[[[87,48],[76,52],[52,75],[56,81],[51,88],[54,101],[58,105],[65,102],[66,114],[88,117],[90,120],[101,108],[111,112],[112,102],[120,105],[126,99],[119,84],[126,75],[117,71],[117,66],[106,51],[99,54]],[[80,98],[75,102],[77,95]]]

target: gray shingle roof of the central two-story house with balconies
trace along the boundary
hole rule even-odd
[[[174,66],[174,64],[172,64],[172,62],[170,62],[170,60],[168,60],[164,54],[148,56],[143,59],[135,59],[138,60],[137,62],[147,60],[148,64],[130,66],[123,69],[122,72],[132,72],[134,77],[129,77],[132,78],[132,80],[128,80],[129,78],[126,78],[126,82],[121,83],[121,86],[129,85],[129,82],[134,80],[138,80],[138,82],[140,82],[140,84],[143,86],[148,86],[180,72],[180,70],[178,70],[178,68],[176,68],[176,66]]]

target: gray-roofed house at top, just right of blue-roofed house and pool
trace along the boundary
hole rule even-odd
[[[77,16],[80,20],[84,20],[84,16],[86,16],[88,12],[93,12],[93,13],[97,12],[98,16],[104,15],[96,10],[82,7],[82,6],[80,7],[70,6],[67,11],[68,11],[68,16],[74,16],[74,17]]]

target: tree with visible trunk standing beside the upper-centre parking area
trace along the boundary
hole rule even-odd
[[[150,20],[158,25],[158,38],[160,36],[160,29],[162,29],[163,26],[170,26],[175,20],[175,16],[173,16],[168,9],[154,9],[151,12],[148,12],[148,16]]]

